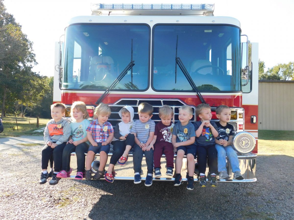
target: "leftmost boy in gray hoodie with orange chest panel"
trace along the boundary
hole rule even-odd
[[[71,121],[63,118],[65,112],[65,105],[58,102],[51,105],[52,119],[47,123],[44,131],[44,141],[46,145],[42,149],[41,167],[42,173],[40,177],[40,184],[47,182],[49,174],[47,172],[49,159],[53,155],[54,173],[50,180],[50,185],[56,185],[60,178],[56,178],[56,174],[61,170],[62,151],[66,142],[71,135]]]

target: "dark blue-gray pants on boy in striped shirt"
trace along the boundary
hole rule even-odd
[[[133,146],[133,164],[135,173],[139,173],[142,167],[143,154],[147,164],[147,173],[153,173],[153,150],[143,151],[138,144]]]

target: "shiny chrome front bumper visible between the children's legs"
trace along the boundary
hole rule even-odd
[[[106,169],[108,167],[109,161],[110,161],[110,157],[111,157],[112,153],[108,153],[108,161],[106,163]],[[244,180],[233,180],[233,173],[230,167],[230,163],[227,160],[227,171],[228,171],[228,175],[230,175],[230,179],[228,180],[223,180],[223,179],[218,179],[218,182],[226,182],[226,183],[249,183],[249,182],[256,182],[256,157],[257,155],[254,153],[248,153],[246,155],[238,155],[238,159],[239,159],[239,166],[240,166],[240,170],[241,170],[241,174],[244,177]],[[175,162],[175,158],[176,155],[174,155],[174,162]],[[99,163],[98,159],[99,159],[99,154],[97,154],[95,156],[96,162]],[[93,166],[93,170],[95,171],[95,168],[97,165],[94,164]],[[93,164],[93,163],[92,163]],[[165,161],[165,156],[163,155],[161,157],[161,177],[153,177],[153,181],[174,181],[174,178],[172,178],[171,176],[167,176],[165,175],[166,172],[166,161]],[[73,173],[70,177],[66,178],[66,179],[74,179],[75,177],[75,172],[76,172],[76,156],[75,153],[71,154],[71,167],[73,168]],[[134,180],[134,170],[133,170],[133,155],[129,154],[128,155],[128,161],[125,165],[119,165],[116,164],[116,166],[114,167],[115,171],[117,173],[116,177],[114,177],[114,180]],[[147,174],[147,166],[146,166],[146,162],[145,162],[145,158],[143,157],[142,160],[142,170],[143,170],[143,175],[142,176],[142,180],[145,180],[145,175]],[[181,170],[181,175],[182,175],[182,180],[183,181],[187,181],[186,178],[186,172],[187,172],[187,160],[186,158],[183,159],[183,166],[182,166],[182,170]],[[208,173],[208,167],[206,169],[206,175]],[[198,180],[198,176],[194,175],[194,181],[199,181]],[[84,179],[83,179],[84,180]],[[101,179],[101,180],[104,180]]]

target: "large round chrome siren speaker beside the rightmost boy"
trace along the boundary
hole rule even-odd
[[[232,138],[232,147],[239,153],[250,153],[256,145],[253,135],[246,131],[235,133]]]

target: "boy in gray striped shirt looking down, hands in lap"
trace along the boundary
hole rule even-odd
[[[140,120],[135,121],[131,128],[131,133],[135,135],[135,144],[133,146],[134,183],[141,183],[140,171],[143,154],[145,154],[147,164],[145,186],[151,186],[153,179],[153,149],[149,146],[155,131],[155,123],[151,120],[152,114],[153,106],[146,102],[141,103],[138,106]]]

